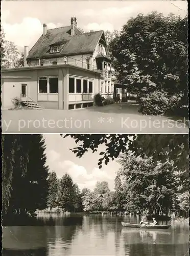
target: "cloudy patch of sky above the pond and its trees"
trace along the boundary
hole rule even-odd
[[[71,137],[62,138],[60,134],[43,134],[46,144],[46,164],[50,172],[54,170],[61,178],[65,173],[69,174],[73,181],[82,189],[87,187],[91,190],[96,186],[97,181],[107,181],[109,188],[114,188],[114,178],[120,164],[116,160],[107,165],[103,164],[102,169],[98,168],[100,152],[105,151],[105,145],[101,145],[98,152],[85,153],[81,158],[69,150],[77,146]]]

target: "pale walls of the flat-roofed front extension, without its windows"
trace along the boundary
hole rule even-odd
[[[69,94],[69,75],[93,81],[92,93]],[[99,92],[99,74],[92,73],[87,69],[75,69],[69,66],[59,67],[56,65],[49,68],[39,67],[24,70],[20,68],[15,69],[15,71],[2,71],[2,76],[4,77],[2,79],[2,109],[12,108],[11,99],[13,97],[20,98],[22,83],[27,84],[27,96],[46,109],[67,110],[69,103],[93,102],[93,95]],[[39,93],[38,78],[49,76],[58,77],[58,93]]]

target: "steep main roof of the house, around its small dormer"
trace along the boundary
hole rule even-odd
[[[72,26],[49,29],[45,36],[41,35],[33,48],[29,51],[29,58],[63,56],[93,52],[100,40],[103,30],[81,33],[75,28],[75,34],[70,35]],[[62,44],[58,53],[50,53],[50,46]]]

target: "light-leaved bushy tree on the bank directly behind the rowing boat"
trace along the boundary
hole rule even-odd
[[[152,157],[123,155],[120,175],[124,178],[124,208],[133,213],[148,210],[154,215],[168,215],[176,197],[172,162],[153,162]]]

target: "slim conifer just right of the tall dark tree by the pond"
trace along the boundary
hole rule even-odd
[[[47,206],[51,209],[57,206],[57,193],[58,193],[59,180],[55,172],[50,173],[48,179],[48,197]]]

